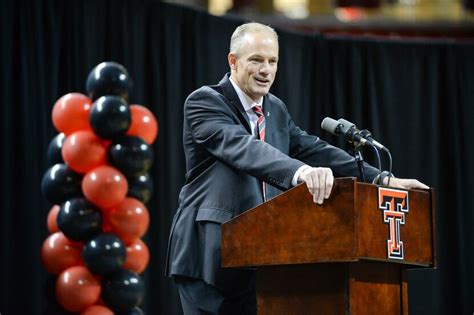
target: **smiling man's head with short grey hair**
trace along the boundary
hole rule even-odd
[[[278,65],[278,35],[260,23],[243,24],[234,31],[227,56],[232,80],[252,100],[266,95]]]

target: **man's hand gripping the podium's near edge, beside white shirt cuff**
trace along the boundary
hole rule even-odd
[[[313,195],[313,201],[320,205],[331,194],[334,176],[327,167],[308,167],[298,176],[298,182],[305,182],[308,190]]]

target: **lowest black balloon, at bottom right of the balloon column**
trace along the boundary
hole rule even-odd
[[[144,294],[143,281],[132,271],[120,270],[102,280],[102,300],[116,313],[128,314],[142,303]]]

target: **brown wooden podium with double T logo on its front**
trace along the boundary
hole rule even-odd
[[[302,184],[222,225],[223,267],[256,267],[258,314],[408,314],[406,269],[434,267],[433,191]]]

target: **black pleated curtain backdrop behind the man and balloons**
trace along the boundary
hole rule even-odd
[[[60,96],[84,92],[88,72],[105,60],[127,67],[131,102],[148,106],[160,124],[143,309],[180,313],[163,269],[185,172],[183,101],[227,71],[229,37],[240,22],[155,1],[2,1],[2,315],[59,312],[54,278],[40,262],[51,206],[40,192],[55,135],[50,113]],[[325,116],[345,117],[391,149],[396,175],[436,189],[439,268],[410,272],[411,313],[472,314],[474,44],[279,34],[273,92],[302,128],[346,148],[319,127]]]

